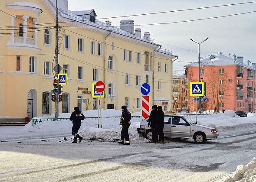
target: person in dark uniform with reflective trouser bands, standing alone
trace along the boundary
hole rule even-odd
[[[127,110],[126,106],[122,106],[122,116],[120,120],[120,125],[122,125],[121,130],[121,140],[119,144],[130,145],[128,128],[130,127],[131,113]],[[125,143],[124,143],[125,142]]]

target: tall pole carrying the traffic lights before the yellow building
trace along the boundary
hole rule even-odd
[[[55,37],[56,37],[56,42],[55,42],[55,65],[56,65],[56,69],[55,69],[55,76],[58,77],[59,74],[59,57],[58,57],[58,40],[59,40],[59,35],[58,35],[58,0],[56,0],[56,25],[55,25]],[[60,85],[58,85],[58,90],[60,90],[61,87]],[[61,93],[61,92],[60,92]],[[55,118],[59,117],[59,100],[58,100],[58,93],[55,93]]]

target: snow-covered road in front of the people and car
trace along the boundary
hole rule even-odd
[[[204,144],[171,139],[131,146],[73,144],[63,135],[13,138],[0,143],[0,181],[221,181],[256,156],[255,138],[251,131]]]

